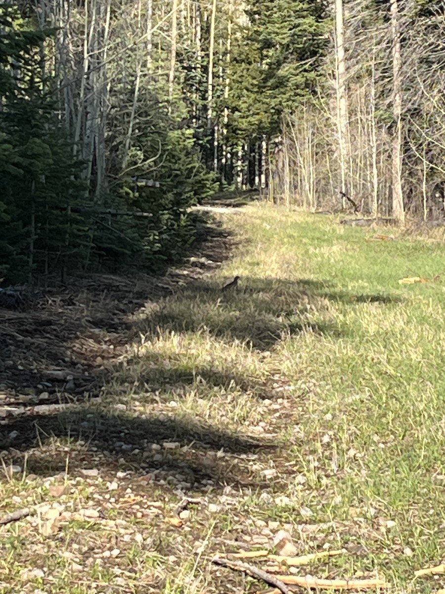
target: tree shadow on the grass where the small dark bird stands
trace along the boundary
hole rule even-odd
[[[329,282],[297,279],[247,278],[239,289],[221,293],[220,287],[196,282],[135,323],[138,333],[205,331],[224,342],[237,340],[253,349],[269,350],[283,336],[310,332],[339,337],[341,327],[329,311],[329,302],[392,304],[398,298],[381,294],[335,290]]]

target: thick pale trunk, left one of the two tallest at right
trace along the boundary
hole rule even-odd
[[[346,62],[343,22],[343,0],[335,0],[335,35],[336,35],[336,91],[337,91],[337,131],[340,165],[340,186],[346,189],[346,170],[348,165],[348,103],[346,94]],[[345,207],[345,198],[343,198]]]

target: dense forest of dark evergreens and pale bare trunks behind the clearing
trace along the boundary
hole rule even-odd
[[[0,6],[0,277],[158,270],[192,204],[440,219],[445,3]]]

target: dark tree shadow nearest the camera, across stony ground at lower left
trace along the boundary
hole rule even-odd
[[[69,457],[70,473],[97,467],[106,472],[151,473],[158,480],[179,473],[194,491],[204,488],[207,481],[215,486],[259,486],[262,481],[258,476],[234,470],[233,456],[249,459],[273,451],[276,446],[191,418],[138,418],[88,407],[59,415],[38,415],[32,421],[29,417],[18,418],[8,429],[17,436],[12,440],[4,436],[0,450],[13,443],[11,462],[21,465],[26,452],[28,475],[63,473]],[[152,450],[152,444],[160,447]]]

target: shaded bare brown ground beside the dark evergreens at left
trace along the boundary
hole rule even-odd
[[[166,276],[70,277],[63,288],[31,294],[20,311],[0,309],[0,418],[9,416],[6,405],[97,396],[135,339],[132,315],[214,271],[232,244],[227,233],[208,228],[196,255]]]

